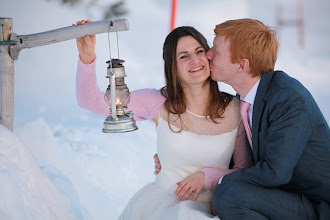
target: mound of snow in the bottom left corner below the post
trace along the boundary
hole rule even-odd
[[[77,219],[15,134],[0,125],[0,219]]]

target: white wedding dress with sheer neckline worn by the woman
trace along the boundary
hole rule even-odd
[[[216,124],[189,111],[168,118],[164,108],[158,117],[157,153],[162,165],[155,182],[144,186],[130,199],[119,219],[219,219],[211,214],[213,191],[204,189],[197,201],[179,202],[174,196],[177,182],[205,167],[228,169],[240,121],[239,103],[234,99],[224,118]],[[168,125],[170,120],[171,128]]]

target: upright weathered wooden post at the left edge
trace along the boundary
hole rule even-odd
[[[0,41],[8,41],[13,32],[13,20],[0,18]],[[0,45],[0,124],[14,127],[14,60],[9,45]]]

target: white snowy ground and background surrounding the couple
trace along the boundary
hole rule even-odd
[[[181,0],[177,25],[196,27],[212,45],[213,28],[228,19],[250,17],[276,26],[278,2]],[[287,18],[294,18],[295,2],[285,1]],[[297,43],[296,28],[279,30],[276,68],[310,90],[329,122],[330,3],[303,2],[306,45]],[[126,83],[130,90],[161,88],[170,1],[125,4],[130,30],[119,33],[119,44],[126,61]],[[61,28],[85,18],[102,19],[95,11],[44,0],[3,0],[0,15],[13,18],[16,34]],[[115,35],[111,48],[116,54]],[[97,36],[96,52],[98,83],[106,89],[107,34]],[[130,133],[102,133],[105,118],[80,109],[76,102],[77,56],[75,41],[70,40],[25,49],[15,61],[14,133],[0,125],[0,219],[116,219],[133,193],[154,179],[153,123],[138,122],[139,130]],[[234,93],[228,85],[220,86]]]

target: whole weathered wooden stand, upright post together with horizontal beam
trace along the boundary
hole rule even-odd
[[[12,33],[11,18],[0,17],[0,25],[0,124],[11,131],[14,127],[14,60],[22,49],[129,29],[127,19],[95,21],[30,35]]]

